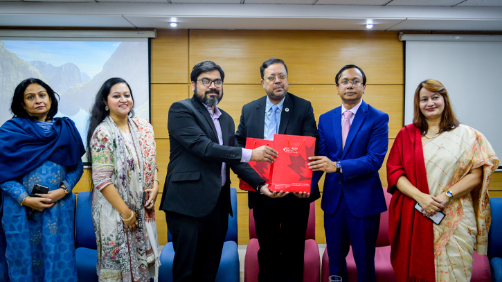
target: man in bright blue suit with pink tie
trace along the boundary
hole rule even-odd
[[[382,167],[388,146],[388,114],[362,100],[366,76],[349,64],[336,76],[341,107],[319,118],[319,156],[310,157],[312,184],[326,173],[321,208],[330,274],[347,280],[352,245],[357,281],[375,281],[380,213],[386,211]]]

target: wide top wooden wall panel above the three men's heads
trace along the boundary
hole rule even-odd
[[[404,81],[397,32],[190,30],[189,37],[189,66],[213,60],[226,71],[226,83],[259,83],[260,66],[269,58],[285,60],[289,83],[330,84],[346,64],[361,67],[371,84]]]

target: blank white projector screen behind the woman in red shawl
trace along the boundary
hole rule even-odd
[[[418,84],[428,78],[439,80],[460,123],[483,133],[500,158],[502,42],[406,41],[405,46],[404,124],[413,121]]]

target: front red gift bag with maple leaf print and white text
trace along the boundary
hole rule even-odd
[[[310,193],[312,170],[308,168],[308,157],[313,157],[316,139],[311,136],[274,135],[273,148],[278,157],[271,164],[270,191]]]

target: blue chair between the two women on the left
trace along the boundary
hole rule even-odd
[[[91,215],[91,191],[78,193],[75,208],[75,257],[79,281],[98,282],[96,233]]]

